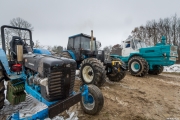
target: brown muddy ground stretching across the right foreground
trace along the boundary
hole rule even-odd
[[[79,84],[77,80],[75,87]],[[80,120],[180,120],[180,75],[127,73],[119,83],[105,83],[101,91],[105,102],[98,115],[85,114],[80,104],[72,108]]]

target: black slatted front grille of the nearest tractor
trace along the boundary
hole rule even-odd
[[[69,97],[74,88],[75,68],[52,68],[48,75],[48,98],[58,100]]]

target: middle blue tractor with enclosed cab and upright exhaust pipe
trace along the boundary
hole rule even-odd
[[[93,31],[91,36],[83,33],[70,36],[67,50],[63,51],[62,56],[77,62],[79,76],[85,84],[100,87],[106,79],[119,82],[126,75],[125,64],[122,61],[106,57],[103,50],[97,50]]]

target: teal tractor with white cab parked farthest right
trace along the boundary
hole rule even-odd
[[[161,42],[153,47],[147,47],[141,40],[129,38],[123,41],[120,54],[112,52],[111,56],[124,61],[132,75],[145,76],[147,73],[160,74],[163,66],[176,63],[178,54],[177,46],[166,44],[166,38],[162,36]]]

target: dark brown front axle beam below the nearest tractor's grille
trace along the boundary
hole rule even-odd
[[[48,108],[49,118],[53,118],[53,117],[57,116],[59,113],[70,108],[74,104],[80,102],[80,100],[81,100],[81,93],[78,92],[75,95],[70,96],[69,98],[67,98],[63,101],[57,102],[56,104],[50,106]]]

